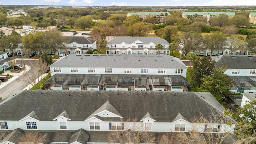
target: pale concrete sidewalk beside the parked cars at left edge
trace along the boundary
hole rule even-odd
[[[26,69],[22,70],[22,72],[10,72],[10,70],[6,70],[4,73],[2,73],[1,75],[7,75],[10,74],[11,76],[13,76],[12,78],[8,79],[6,82],[2,82],[0,84],[0,89],[3,88],[4,86],[6,86],[7,84],[9,84],[10,82],[16,80],[18,77],[22,76],[24,73],[28,72],[31,69],[30,66],[26,65]]]

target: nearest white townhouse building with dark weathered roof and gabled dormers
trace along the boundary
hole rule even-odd
[[[0,144],[22,142],[25,130],[40,132],[42,144],[109,144],[113,131],[232,134],[236,125],[210,120],[224,108],[207,92],[24,90],[0,113],[1,132],[12,130]]]

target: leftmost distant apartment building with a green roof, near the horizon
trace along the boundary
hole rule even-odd
[[[139,16],[142,20],[144,20],[148,15],[158,17],[158,24],[164,24],[164,17],[171,14],[169,12],[129,12],[126,14],[126,16]]]

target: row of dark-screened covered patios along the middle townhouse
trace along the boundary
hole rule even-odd
[[[44,85],[51,90],[190,90],[188,80],[175,75],[55,74]]]

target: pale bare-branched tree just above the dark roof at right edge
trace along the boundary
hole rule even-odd
[[[239,38],[236,38],[235,36],[230,36],[227,38],[227,45],[229,46],[230,54],[233,54],[236,50],[243,50],[244,46],[246,45],[246,42],[243,40],[240,40]]]

